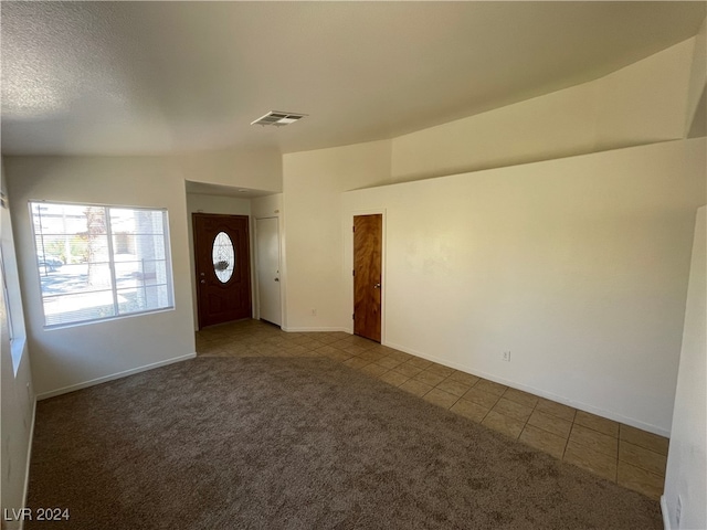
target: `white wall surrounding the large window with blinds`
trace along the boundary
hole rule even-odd
[[[184,176],[177,165],[147,157],[9,157],[6,171],[40,398],[194,354]],[[167,208],[175,310],[45,330],[31,200]]]

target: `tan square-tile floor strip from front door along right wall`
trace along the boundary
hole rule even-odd
[[[344,332],[282,331],[257,320],[197,332],[199,356],[326,357],[564,462],[663,492],[668,439]]]

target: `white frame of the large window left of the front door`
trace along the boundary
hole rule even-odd
[[[73,320],[66,322],[57,322],[57,324],[46,324],[46,314],[44,311],[44,294],[42,293],[42,279],[41,279],[41,265],[39,254],[42,252],[36,245],[38,237],[43,237],[48,234],[38,234],[34,226],[34,205],[65,205],[65,206],[85,206],[85,208],[103,208],[105,210],[105,220],[106,220],[106,237],[108,243],[108,268],[110,271],[110,290],[113,295],[113,307],[115,315],[110,315],[107,317],[97,317],[97,318],[88,318],[84,320]],[[148,208],[148,206],[130,206],[124,204],[97,204],[97,203],[88,203],[88,202],[66,202],[66,201],[50,201],[50,200],[41,200],[41,201],[29,201],[29,210],[30,210],[30,224],[32,226],[32,247],[34,248],[35,254],[35,264],[36,264],[36,278],[40,284],[40,297],[42,303],[42,316],[44,317],[44,329],[59,329],[59,328],[67,328],[74,326],[85,326],[97,322],[105,322],[109,320],[117,320],[129,317],[137,317],[144,315],[150,315],[155,312],[163,312],[175,309],[175,282],[173,282],[173,272],[172,272],[172,256],[171,256],[171,239],[169,234],[169,212],[166,208]],[[168,304],[165,306],[160,306],[157,308],[150,308],[145,310],[137,311],[128,311],[120,312],[119,303],[118,303],[118,287],[116,282],[116,269],[115,269],[115,252],[114,252],[114,243],[113,243],[113,231],[110,226],[110,209],[116,210],[133,210],[133,211],[146,211],[146,212],[159,212],[162,214],[162,236],[165,239],[165,268],[166,268],[166,280],[165,285],[167,287],[167,296]],[[161,261],[161,259],[160,259]],[[77,292],[80,294],[81,292]]]

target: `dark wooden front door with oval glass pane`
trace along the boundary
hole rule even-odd
[[[199,328],[251,318],[246,215],[193,213]]]

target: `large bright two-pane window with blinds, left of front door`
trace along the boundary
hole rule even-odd
[[[173,307],[166,210],[30,202],[44,325]]]

